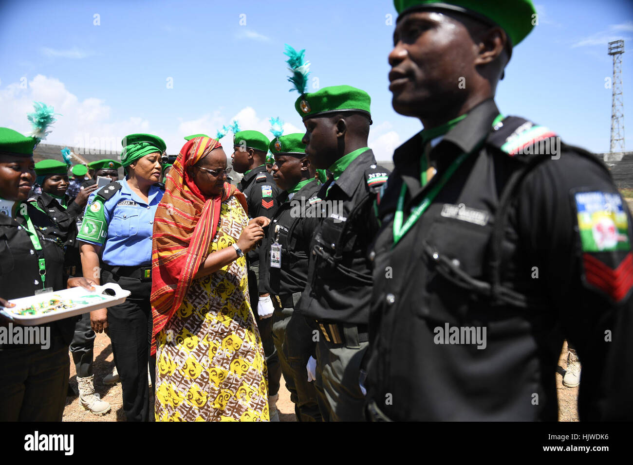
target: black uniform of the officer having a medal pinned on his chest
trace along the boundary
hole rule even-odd
[[[276,307],[272,317],[273,341],[299,421],[321,421],[314,384],[308,382],[306,371],[313,353],[313,329],[302,315],[294,312],[306,287],[310,240],[320,221],[315,211],[321,201],[316,196],[319,189],[320,184],[312,180],[292,199],[287,192],[280,195],[279,209],[260,247],[260,293],[270,293]],[[275,242],[282,247],[281,268],[270,266],[270,247]]]

